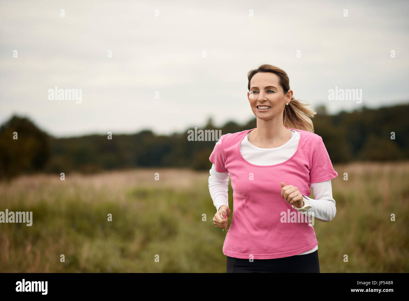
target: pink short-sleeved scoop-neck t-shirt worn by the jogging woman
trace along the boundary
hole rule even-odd
[[[240,142],[251,130],[222,135],[209,160],[218,172],[229,172],[233,214],[223,254],[236,258],[272,259],[301,254],[318,245],[304,213],[281,196],[281,182],[310,195],[311,183],[337,177],[322,138],[305,130],[297,151],[285,162],[254,165],[240,154]],[[310,218],[312,215],[310,215]]]

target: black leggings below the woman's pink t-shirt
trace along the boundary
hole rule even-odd
[[[319,273],[318,250],[304,255],[274,259],[227,256],[227,273]]]

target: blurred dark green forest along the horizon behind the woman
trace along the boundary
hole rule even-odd
[[[316,110],[314,133],[322,137],[333,164],[409,158],[409,105],[363,107],[336,115],[328,115],[323,106]],[[221,130],[224,135],[256,128],[256,119],[243,125],[229,121],[221,128],[209,119],[202,128],[196,127]],[[209,170],[216,142],[189,141],[188,130],[194,127],[168,136],[142,130],[133,135],[112,133],[112,139],[108,134],[57,139],[26,117],[14,115],[0,127],[0,178],[38,171],[94,173],[148,166]]]

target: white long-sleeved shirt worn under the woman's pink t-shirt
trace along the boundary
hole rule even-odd
[[[248,140],[248,134],[240,143],[240,153],[246,161],[255,165],[274,165],[285,162],[290,159],[298,148],[300,139],[299,132],[291,130],[291,138],[285,144],[274,148],[259,148],[251,144]],[[226,205],[229,207],[228,189],[229,189],[229,173],[219,173],[216,171],[214,164],[210,169],[209,176],[209,192],[216,207],[216,212],[220,206]],[[309,211],[314,211],[314,218],[324,222],[330,222],[336,213],[335,200],[332,195],[331,180],[326,182],[311,183],[311,188],[315,199],[309,198],[311,208],[303,212],[307,214]],[[301,212],[301,211],[300,211]],[[308,254],[315,252],[318,245],[313,249],[298,254]]]

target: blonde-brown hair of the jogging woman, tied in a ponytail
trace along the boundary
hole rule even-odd
[[[288,79],[288,75],[284,70],[273,65],[263,64],[257,69],[250,70],[247,73],[247,78],[249,79],[247,89],[249,91],[250,81],[254,74],[258,72],[271,72],[276,74],[280,79],[279,84],[283,88],[284,94],[287,94],[288,90],[290,90],[290,79]],[[301,103],[300,99],[295,99],[294,96],[291,97],[291,101],[288,106],[284,106],[285,108],[283,112],[283,125],[287,128],[307,130],[314,133],[314,125],[312,124],[312,120],[309,117],[313,117],[315,114],[317,114],[317,112],[310,108],[307,108],[307,106],[311,106],[311,103],[308,103],[307,105],[305,103]]]

